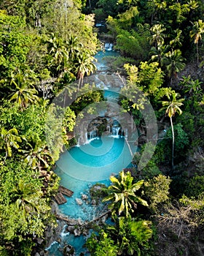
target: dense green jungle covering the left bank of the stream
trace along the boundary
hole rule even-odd
[[[32,255],[47,225],[56,225],[50,203],[59,178],[52,169],[71,145],[77,111],[51,103],[68,83],[79,79],[73,94],[94,72],[93,24],[81,1],[1,1],[0,255]],[[93,94],[87,102],[81,97],[83,107],[100,100]]]

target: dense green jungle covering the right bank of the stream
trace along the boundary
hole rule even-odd
[[[120,75],[127,78],[119,104],[133,118],[138,141],[146,135],[146,116],[141,113],[147,108],[147,99],[159,127],[148,164],[137,170],[144,148],[148,147],[148,154],[154,148],[150,142],[141,145],[134,156],[132,178],[130,173],[111,177],[111,186],[106,189],[109,195],[103,201],[108,203],[114,225],[103,225],[102,233],[88,239],[91,255],[95,255],[94,241],[103,241],[103,233],[117,246],[112,246],[117,249],[112,255],[202,255],[203,10],[199,0],[87,1],[85,12],[94,12],[96,23],[106,21],[107,31],[104,34],[101,30],[101,38],[111,40],[122,56],[113,59],[119,63]],[[138,182],[143,185],[135,191]],[[136,197],[148,206],[134,208]],[[135,251],[131,250],[128,232],[122,227],[125,219],[131,230],[129,217],[141,221],[139,227],[151,219],[152,236],[144,240],[148,246],[135,244]]]

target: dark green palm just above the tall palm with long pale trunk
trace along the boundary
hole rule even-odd
[[[165,58],[163,64],[168,72],[168,77],[170,78],[170,86],[173,82],[173,77],[177,76],[177,73],[184,69],[185,59],[181,56],[181,50],[170,50],[168,53],[165,53]]]

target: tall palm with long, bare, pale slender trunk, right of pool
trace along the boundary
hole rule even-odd
[[[172,117],[175,116],[176,112],[178,112],[178,114],[181,115],[182,110],[179,107],[181,107],[181,105],[183,105],[182,102],[184,101],[184,99],[176,99],[176,97],[178,97],[179,94],[176,93],[175,91],[173,91],[172,99],[170,99],[170,94],[166,94],[166,96],[168,97],[168,101],[162,101],[162,106],[167,107],[166,110],[165,110],[165,114],[168,115],[168,117],[170,118],[170,126],[171,126],[171,130],[172,130],[172,159],[171,159],[171,165],[172,165],[172,168],[173,168],[174,131],[173,131]]]

